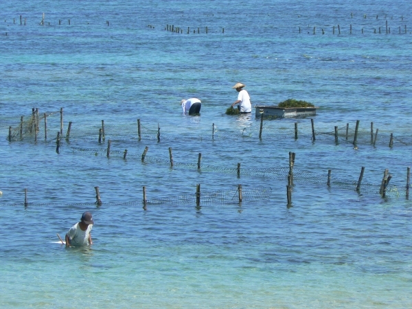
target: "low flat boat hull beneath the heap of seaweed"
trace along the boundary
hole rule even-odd
[[[293,118],[293,117],[305,117],[316,115],[316,110],[319,106],[314,107],[279,107],[279,106],[267,106],[256,105],[255,115],[256,118]]]

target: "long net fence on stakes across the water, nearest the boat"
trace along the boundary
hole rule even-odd
[[[160,128],[157,127],[148,128],[145,125],[138,125],[138,122],[133,124],[104,124],[103,122],[96,123],[95,125],[84,124],[72,124],[69,130],[68,125],[65,124],[65,132],[60,127],[60,111],[50,113],[32,113],[30,116],[22,117],[19,119],[3,118],[0,119],[0,128],[12,127],[8,139],[12,141],[54,141],[56,140],[56,132],[61,131],[60,138],[69,138],[71,141],[79,140],[93,140],[98,141],[99,138],[114,139],[118,141],[130,141],[133,139],[141,140],[181,140],[185,139],[194,140],[212,140],[212,139],[244,139],[244,138],[258,138],[262,139],[307,139],[313,140],[312,128],[306,122],[299,122],[297,131],[295,131],[295,125],[292,122],[282,123],[279,121],[264,121],[262,127],[262,133],[260,132],[260,125],[257,123],[251,124],[242,130],[219,130],[218,126],[211,126],[210,130],[199,131],[198,135],[192,135],[192,133],[185,133],[181,130],[177,131],[176,128]],[[45,119],[50,121],[45,122]],[[52,121],[53,120],[53,121]],[[100,129],[101,132],[100,132]],[[101,136],[100,136],[101,134]],[[365,128],[358,128],[356,130],[353,127],[341,126],[335,130],[327,130],[317,128],[315,130],[314,139],[316,141],[329,141],[338,143],[350,143],[353,144],[369,144],[369,145],[385,145],[385,146],[412,146],[412,134],[411,135],[399,135],[391,133],[377,133],[372,130],[366,130]]]

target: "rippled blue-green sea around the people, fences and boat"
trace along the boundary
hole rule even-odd
[[[363,181],[380,184],[387,168],[402,187],[411,146],[354,149],[333,137],[295,141],[293,133],[242,138],[244,128],[259,130],[259,119],[225,110],[237,98],[231,87],[243,82],[253,104],[295,98],[319,106],[319,131],[360,120],[364,131],[374,122],[380,133],[410,137],[411,9],[408,1],[1,3],[0,120],[16,124],[32,108],[64,108],[65,130],[69,121],[81,130],[102,119],[119,127],[141,119],[146,128],[161,127],[161,141],[115,139],[112,149],[140,155],[148,146],[151,157],[168,159],[172,147],[177,162],[196,163],[201,152],[203,164],[233,168],[285,167],[292,151],[302,170],[331,169],[356,181],[365,166]],[[181,115],[179,102],[190,97],[202,100],[201,117]],[[58,118],[49,117],[50,139]],[[294,122],[310,134],[308,118],[265,128],[293,132]],[[214,141],[189,138],[210,137],[212,124]],[[297,181],[293,207],[286,207],[284,179],[71,151],[106,148],[97,132],[63,143],[60,154],[54,142],[9,142],[7,126],[0,133],[3,308],[412,306],[412,211],[403,194],[381,198]],[[197,183],[205,192],[241,183],[273,194],[242,205],[126,205],[141,201],[142,186],[148,198],[161,198],[193,193]],[[93,205],[95,186],[101,207]],[[45,204],[24,209],[25,188],[31,203]],[[93,246],[56,244],[56,233],[64,236],[86,210],[95,220]]]

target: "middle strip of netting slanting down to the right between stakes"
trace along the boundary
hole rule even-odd
[[[78,152],[86,155],[94,155],[100,157],[107,157],[107,149],[87,149],[87,148],[71,148],[73,152]],[[122,151],[110,151],[110,157],[124,158],[124,152]],[[127,153],[127,159],[142,160],[142,155],[133,155]],[[171,165],[170,159],[159,159],[154,157],[145,156],[145,163],[157,163],[161,165]],[[190,170],[199,170],[198,163],[180,163],[173,161],[174,168],[185,168]],[[273,179],[280,179],[287,181],[290,174],[290,167],[278,167],[278,168],[238,168],[238,167],[222,167],[215,165],[201,165],[200,170],[202,172],[223,172],[229,174],[238,174],[239,176],[261,176]],[[339,187],[346,190],[358,190],[362,194],[380,194],[381,185],[375,185],[371,183],[361,183],[358,188],[358,181],[341,179],[331,174],[328,176],[328,172],[317,173],[308,170],[301,170],[299,168],[292,169],[293,181],[299,183],[312,183],[315,185],[325,186],[329,183],[330,187]],[[399,196],[401,193],[406,194],[406,185],[388,185],[386,188],[386,196]]]

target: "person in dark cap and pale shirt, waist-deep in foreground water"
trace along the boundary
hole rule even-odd
[[[91,241],[91,229],[93,227],[93,217],[89,211],[82,214],[80,222],[69,229],[66,234],[66,247],[79,247],[93,244]]]

